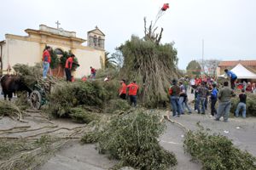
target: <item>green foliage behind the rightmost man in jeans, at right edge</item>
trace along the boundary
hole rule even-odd
[[[232,98],[231,99],[231,109],[232,113],[236,112],[236,106],[239,103],[239,98]],[[247,115],[256,116],[256,95],[247,93]]]

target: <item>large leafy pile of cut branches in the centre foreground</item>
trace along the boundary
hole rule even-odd
[[[177,160],[159,144],[158,138],[164,129],[165,125],[154,113],[129,111],[113,116],[102,130],[86,133],[82,141],[98,142],[101,153],[120,160],[117,168],[167,169],[176,165]]]

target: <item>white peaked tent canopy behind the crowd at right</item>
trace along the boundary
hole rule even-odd
[[[238,79],[256,79],[256,74],[252,71],[248,71],[247,68],[241,64],[236,65],[231,71],[236,74]],[[220,75],[219,77],[225,77],[225,74]]]

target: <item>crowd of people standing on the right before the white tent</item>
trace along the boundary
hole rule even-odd
[[[230,82],[224,82],[223,88],[218,86],[218,82],[215,77],[200,76],[189,79],[189,77],[183,78],[177,82],[172,80],[172,86],[169,89],[170,103],[172,105],[172,116],[181,116],[184,114],[185,108],[188,113],[192,111],[188,105],[188,89],[191,88],[191,94],[195,94],[194,111],[198,114],[206,114],[208,103],[211,104],[211,115],[214,116],[216,121],[219,121],[221,116],[224,117],[224,122],[228,122],[230,114],[231,98],[236,97],[234,89],[240,89],[241,94],[239,98],[239,104],[236,106],[235,116],[241,116],[246,118],[246,103],[247,94],[256,94],[255,82],[243,82],[241,87],[240,82],[236,82],[236,74],[232,71],[225,70],[225,73]],[[230,85],[230,86],[229,86]],[[218,109],[216,109],[216,103],[218,101]]]

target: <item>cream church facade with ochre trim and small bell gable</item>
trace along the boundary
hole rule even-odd
[[[65,51],[71,51],[79,60],[79,68],[73,72],[73,77],[83,77],[90,74],[90,66],[99,69],[104,65],[105,35],[98,27],[87,32],[89,39],[87,46],[85,39],[76,37],[75,31],[64,31],[40,25],[39,30],[26,29],[28,36],[6,34],[5,40],[0,42],[1,70],[7,71],[15,64],[35,65],[42,62],[42,55],[46,45],[55,50],[58,57]],[[56,71],[55,71],[56,72]],[[63,69],[58,74],[64,75]]]

